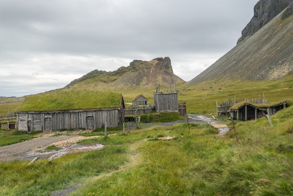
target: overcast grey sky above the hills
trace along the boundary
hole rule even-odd
[[[189,81],[236,45],[256,2],[0,0],[0,96],[165,56]]]

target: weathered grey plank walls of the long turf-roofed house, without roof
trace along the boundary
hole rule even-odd
[[[22,131],[52,131],[120,127],[124,122],[124,99],[116,107],[70,111],[16,112],[16,129]],[[116,100],[118,100],[116,98]],[[99,98],[97,98],[97,102]],[[120,105],[120,106],[119,106]],[[117,107],[118,106],[118,107]]]

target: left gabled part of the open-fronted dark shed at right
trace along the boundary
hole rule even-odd
[[[264,109],[255,107],[252,104],[244,103],[239,106],[233,106],[229,111],[232,118],[237,120],[252,120],[263,116]]]

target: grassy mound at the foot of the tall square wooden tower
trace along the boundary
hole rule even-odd
[[[164,123],[182,119],[185,119],[185,117],[180,116],[179,112],[151,113],[140,116],[140,122],[142,123]]]

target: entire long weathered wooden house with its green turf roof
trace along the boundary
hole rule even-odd
[[[57,91],[28,96],[16,112],[16,129],[27,132],[120,127],[125,104],[120,93]]]

